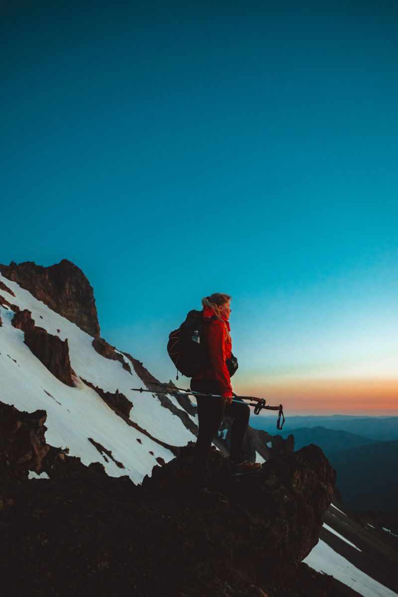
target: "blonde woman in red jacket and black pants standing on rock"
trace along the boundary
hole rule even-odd
[[[231,472],[233,475],[251,473],[261,468],[259,463],[244,460],[246,430],[250,409],[243,402],[232,402],[232,387],[226,360],[231,357],[232,343],[229,317],[231,297],[215,293],[202,298],[203,340],[208,350],[208,368],[193,377],[191,389],[194,392],[220,395],[196,396],[198,401],[199,432],[193,454],[192,482],[195,488],[205,488],[207,469],[214,436],[220,428],[224,414],[233,417],[231,429]]]

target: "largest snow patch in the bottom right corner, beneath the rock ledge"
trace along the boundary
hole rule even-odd
[[[334,576],[364,597],[397,597],[397,593],[350,564],[325,541],[319,540],[304,562],[317,572]]]

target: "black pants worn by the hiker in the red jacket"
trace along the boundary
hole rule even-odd
[[[195,392],[220,394],[217,381],[193,379],[191,389]],[[235,419],[231,428],[231,460],[242,462],[244,459],[250,408],[244,402],[226,404],[221,398],[212,396],[196,396],[196,400],[199,432],[193,453],[192,484],[194,487],[205,487],[211,444],[220,429],[224,414]]]

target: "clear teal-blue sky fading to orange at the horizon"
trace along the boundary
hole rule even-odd
[[[230,294],[236,393],[398,414],[396,2],[0,17],[0,263],[73,261],[101,336],[165,381],[170,331]]]

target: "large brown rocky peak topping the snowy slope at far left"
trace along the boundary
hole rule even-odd
[[[0,272],[91,336],[100,335],[94,292],[82,270],[71,261],[63,259],[49,267],[33,261],[11,261],[9,266],[0,264]]]

